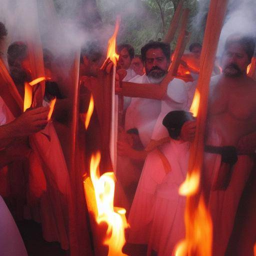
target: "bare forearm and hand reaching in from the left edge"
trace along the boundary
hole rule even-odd
[[[0,147],[8,145],[16,137],[28,136],[47,124],[48,107],[26,110],[13,121],[0,126]]]

